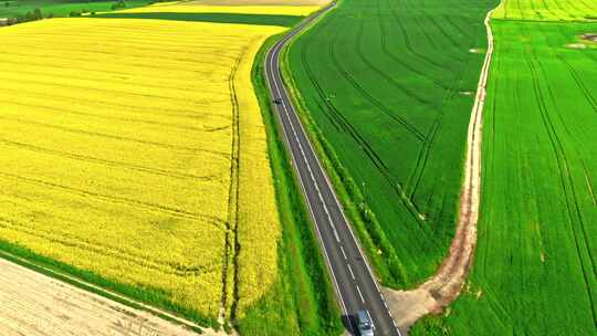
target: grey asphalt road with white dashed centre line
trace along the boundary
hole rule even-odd
[[[274,108],[282,127],[293,167],[301,181],[315,229],[327,262],[348,333],[358,335],[356,313],[367,309],[376,327],[375,335],[400,335],[391,318],[377,281],[350,230],[342,206],[325,175],[296,115],[282,82],[280,53],[284,45],[335,3],[305,19],[270,49],[265,73]]]

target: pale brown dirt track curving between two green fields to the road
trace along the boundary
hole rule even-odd
[[[473,261],[481,199],[482,113],[493,53],[493,33],[490,27],[492,12],[493,10],[485,17],[488,53],[481,71],[476,99],[469,123],[464,182],[460,195],[457,232],[449,255],[436,275],[418,288],[411,291],[384,290],[391,314],[398,326],[405,332],[423,315],[440,313],[444,306],[460,294]]]

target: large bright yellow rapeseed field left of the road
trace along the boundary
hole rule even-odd
[[[0,241],[203,317],[230,313],[237,291],[242,317],[276,279],[250,72],[283,30],[91,18],[0,29]]]

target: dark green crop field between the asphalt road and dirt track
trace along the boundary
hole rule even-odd
[[[432,274],[453,237],[496,4],[344,0],[289,52],[303,118],[385,285]]]

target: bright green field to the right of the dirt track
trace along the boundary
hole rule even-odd
[[[492,27],[475,262],[411,335],[596,335],[597,24]]]

